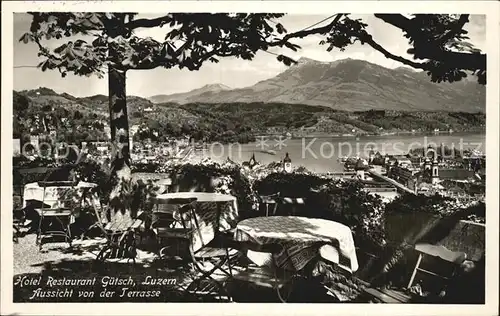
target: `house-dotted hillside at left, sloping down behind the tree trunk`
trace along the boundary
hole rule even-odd
[[[130,125],[178,126],[194,124],[196,117],[176,105],[156,105],[149,100],[127,96]],[[109,125],[108,97],[77,98],[49,88],[13,92],[14,137],[57,131],[61,139],[103,140]],[[24,135],[24,136],[23,136]]]

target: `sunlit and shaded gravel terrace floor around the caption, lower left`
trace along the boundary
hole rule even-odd
[[[193,274],[186,263],[165,264],[155,260],[153,252],[138,250],[136,264],[127,262],[106,262],[103,268],[96,269],[95,258],[101,247],[105,244],[104,238],[93,238],[87,240],[76,240],[70,248],[67,243],[47,243],[39,251],[36,245],[36,235],[27,234],[19,238],[17,243],[13,243],[13,268],[14,282],[20,277],[27,279],[38,279],[41,275],[44,280],[47,277],[66,279],[93,279],[96,278],[95,285],[88,288],[81,288],[94,292],[95,296],[90,298],[79,298],[74,294],[71,298],[57,299],[58,302],[80,302],[80,301],[107,301],[119,302],[124,299],[120,297],[123,286],[108,286],[108,291],[115,291],[112,298],[97,297],[104,291],[101,283],[104,277],[125,279],[131,277],[134,280],[134,290],[158,290],[159,297],[156,298],[130,298],[126,301],[137,302],[182,302],[184,301],[183,289],[190,283]],[[147,277],[169,279],[172,284],[167,286],[143,286],[141,285]],[[223,282],[224,276],[216,275],[219,281]],[[41,287],[45,282],[42,281]],[[41,297],[33,297],[37,285],[19,286],[14,285],[14,302],[37,302],[47,301]],[[56,287],[59,289],[59,287]],[[234,289],[234,287],[231,287]],[[54,287],[51,288],[53,290]],[[64,289],[60,287],[60,289]],[[80,289],[80,288],[79,288]],[[276,292],[272,289],[255,287],[237,287],[231,292],[235,302],[279,302]],[[336,300],[326,293],[323,287],[312,291],[304,291],[298,298],[305,302],[335,302]],[[309,294],[309,295],[306,295]],[[208,300],[208,298],[207,298]],[[54,300],[55,301],[55,300]],[[204,299],[202,301],[205,301]]]

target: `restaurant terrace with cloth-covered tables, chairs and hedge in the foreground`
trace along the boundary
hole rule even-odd
[[[77,177],[88,179],[82,170],[90,169],[89,166],[97,168],[92,164],[81,168]],[[109,202],[103,198],[105,181],[96,176],[99,170],[92,171],[92,181],[97,185],[86,185],[83,181],[71,184],[72,189],[91,188],[97,201],[93,207],[78,205],[68,213],[74,216],[73,211],[78,210],[75,221],[68,224],[71,246],[64,239],[66,236],[63,242],[56,240],[43,245],[37,242],[44,233],[40,223],[44,216],[49,217],[44,213],[48,210],[45,206],[41,211],[35,206],[27,207],[26,201],[33,203],[36,195],[47,192],[50,186],[40,182],[41,178],[48,179],[43,170],[30,177],[23,173],[22,181],[38,183],[40,188],[33,189],[36,186],[24,183],[18,190],[16,278],[95,277],[98,282],[88,288],[101,292],[100,281],[104,277],[131,277],[136,285],[133,290],[139,294],[136,293],[137,297],[135,292],[124,294],[126,301],[387,302],[381,298],[380,289],[403,293],[400,298],[407,297],[411,302],[481,300],[463,298],[458,291],[464,286],[460,279],[464,275],[475,282],[484,282],[484,278],[476,275],[484,264],[484,244],[481,244],[484,228],[463,222],[472,214],[470,209],[445,215],[453,207],[446,207],[441,200],[420,201],[422,197],[407,195],[392,197],[384,204],[379,195],[358,186],[358,181],[318,177],[308,172],[283,174],[268,166],[250,170],[235,164],[208,162],[148,171],[136,181],[137,193],[130,200],[136,207],[135,215],[130,220],[122,218],[119,223],[108,219]],[[58,185],[68,187],[67,182]],[[371,188],[382,189],[387,188]],[[42,205],[50,204],[45,193],[39,199]],[[408,203],[407,199],[420,202]],[[418,207],[419,203],[431,204],[422,206],[425,212],[407,209]],[[436,211],[429,213],[433,208]],[[189,234],[184,238],[183,228],[200,233],[197,236],[201,239]],[[115,239],[116,236],[122,238]],[[216,236],[221,236],[224,242],[219,244]],[[340,240],[343,242],[339,243]],[[475,276],[464,272],[453,277],[453,291],[448,290],[452,294],[444,298],[434,295],[436,290],[422,283],[420,276],[408,285],[421,253],[415,247],[423,242],[466,253],[467,260],[476,266]],[[222,255],[201,260],[197,251],[209,244],[224,251]],[[276,250],[276,245],[287,251]],[[287,255],[283,256],[284,253]],[[438,270],[443,268],[439,259],[430,257],[435,262],[426,264]],[[460,270],[463,262],[457,264]],[[447,269],[444,272],[451,271]],[[142,284],[148,276],[171,281],[166,285]],[[423,290],[418,292],[416,288]],[[108,289],[121,293],[123,286]],[[30,299],[34,290],[34,286],[15,286],[15,301],[47,301],[43,297]],[[145,299],[141,296],[145,291],[157,296]],[[116,295],[58,300],[123,299]]]

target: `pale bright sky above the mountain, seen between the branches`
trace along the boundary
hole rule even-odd
[[[156,17],[161,14],[140,14],[140,17]],[[294,32],[309,27],[328,16],[322,15],[286,15],[280,22],[288,32]],[[411,57],[406,54],[408,49],[407,40],[402,32],[373,15],[352,15],[362,18],[368,24],[367,31],[374,40],[393,54]],[[466,29],[469,31],[470,42],[475,47],[484,50],[486,48],[486,21],[484,15],[471,15]],[[329,23],[325,21],[318,26]],[[29,31],[31,16],[25,13],[14,14],[14,90],[36,89],[38,87],[51,88],[58,93],[66,92],[77,97],[96,94],[107,95],[107,78],[99,79],[97,76],[80,77],[69,74],[62,78],[57,70],[42,72],[38,68],[17,68],[19,66],[35,66],[41,59],[37,57],[38,48],[34,43],[24,44],[19,38]],[[165,29],[139,29],[138,36],[150,36],[162,41]],[[291,58],[299,59],[307,57],[319,61],[331,62],[344,58],[363,59],[387,68],[403,66],[399,62],[385,58],[381,53],[368,45],[355,44],[348,47],[344,52],[333,50],[326,51],[326,46],[319,45],[322,38],[309,36],[303,39],[295,39],[292,42],[302,47],[298,52],[286,48],[276,48],[273,53],[283,53]],[[50,47],[57,47],[68,41],[69,38],[52,40],[48,43]],[[221,83],[231,88],[243,88],[256,84],[259,81],[272,78],[286,70],[287,66],[276,60],[276,56],[258,52],[252,61],[226,57],[221,58],[219,63],[205,63],[199,71],[179,70],[177,68],[157,68],[153,70],[133,70],[127,72],[127,95],[150,97],[157,94],[172,94],[187,92],[200,88],[206,84]]]

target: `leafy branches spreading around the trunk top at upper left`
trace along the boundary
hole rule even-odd
[[[104,67],[115,69],[187,68],[198,70],[203,62],[218,62],[218,57],[236,56],[251,60],[258,50],[267,50],[281,24],[270,23],[283,14],[208,14],[171,13],[155,19],[136,19],[136,13],[40,13],[32,12],[30,32],[20,41],[35,42],[45,57],[42,70],[59,69],[77,75],[104,74]],[[168,26],[165,40],[135,35],[139,28]],[[92,42],[68,41],[53,51],[43,39],[62,39],[75,35],[93,37]],[[285,41],[279,46],[296,45]],[[111,53],[109,53],[111,52]],[[288,58],[278,58],[289,63]]]

